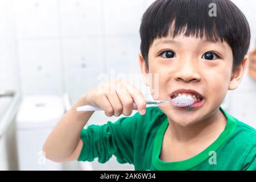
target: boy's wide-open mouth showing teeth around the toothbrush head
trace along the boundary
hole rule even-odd
[[[174,99],[179,96],[190,96],[194,100],[194,103],[192,105],[186,106],[186,107],[180,107],[181,109],[188,109],[188,108],[195,109],[201,106],[204,102],[204,97],[199,92],[196,92],[195,90],[184,90],[184,89],[176,90],[175,92],[172,92],[170,94],[171,99]]]

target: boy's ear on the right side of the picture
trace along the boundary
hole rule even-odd
[[[243,58],[241,65],[237,67],[236,70],[232,73],[232,77],[229,82],[229,90],[236,89],[240,84],[240,82],[242,81],[243,75],[245,73],[247,61],[248,61],[248,56],[246,55]]]

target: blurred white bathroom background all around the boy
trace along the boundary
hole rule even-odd
[[[53,163],[43,141],[62,115],[102,74],[139,76],[139,26],[152,0],[0,0],[0,170],[133,170],[109,162]],[[233,0],[251,27],[250,64],[222,104],[256,127],[256,1]],[[133,82],[134,80],[131,80]],[[121,115],[120,117],[123,117]],[[103,111],[88,125],[117,121]]]

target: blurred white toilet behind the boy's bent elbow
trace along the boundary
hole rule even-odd
[[[19,170],[63,170],[63,163],[46,159],[43,143],[64,115],[63,99],[51,95],[25,96],[16,116]]]

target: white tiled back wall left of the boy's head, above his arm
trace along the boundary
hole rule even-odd
[[[100,73],[139,73],[139,25],[149,3],[14,0],[23,96],[68,93],[75,104],[101,82]],[[98,113],[90,122],[115,119]],[[95,164],[96,169],[125,169]]]

